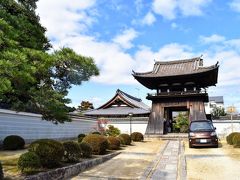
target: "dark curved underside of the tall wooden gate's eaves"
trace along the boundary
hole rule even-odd
[[[218,80],[219,65],[212,67],[201,72],[181,74],[181,75],[169,75],[169,76],[146,76],[133,74],[134,78],[140,82],[143,86],[149,89],[158,89],[160,84],[169,84],[181,82],[195,82],[195,84],[201,87],[215,86]]]

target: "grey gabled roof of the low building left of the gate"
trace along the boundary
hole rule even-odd
[[[118,89],[115,96],[108,102],[99,108],[89,110],[84,114],[90,116],[117,116],[128,115],[129,113],[133,113],[135,115],[149,114],[150,108],[144,104],[141,99],[131,96]]]

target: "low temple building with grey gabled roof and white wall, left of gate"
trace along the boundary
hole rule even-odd
[[[96,117],[107,121],[122,133],[146,131],[149,120],[150,107],[141,99],[117,90],[115,96],[97,109],[89,110],[85,116]]]

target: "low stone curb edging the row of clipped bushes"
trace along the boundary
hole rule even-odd
[[[68,179],[72,176],[78,175],[80,172],[86,170],[87,168],[101,164],[101,163],[117,156],[120,153],[121,152],[114,152],[114,153],[107,154],[107,155],[104,155],[104,156],[96,158],[96,159],[91,159],[89,161],[84,161],[84,162],[80,162],[80,163],[70,165],[67,167],[57,168],[52,171],[42,172],[42,173],[39,173],[39,174],[36,174],[33,176],[28,176],[28,177],[25,177],[24,179],[25,180]]]

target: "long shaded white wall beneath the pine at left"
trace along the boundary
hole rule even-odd
[[[0,109],[0,142],[8,135],[22,136],[27,142],[35,139],[65,139],[89,133],[96,127],[96,119],[73,117],[72,122],[53,124],[33,113],[16,113]]]

